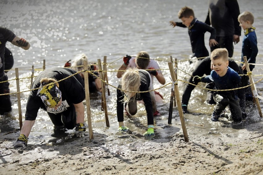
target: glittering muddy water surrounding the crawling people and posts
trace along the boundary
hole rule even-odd
[[[257,4],[257,0],[240,0],[240,11],[252,11],[255,16],[255,27],[262,28],[261,20],[262,5]],[[63,3],[63,6],[61,6]],[[169,60],[170,55],[178,60],[184,60],[191,54],[189,36],[186,29],[172,28],[169,26],[170,20],[177,19],[177,12],[182,6],[194,8],[196,17],[204,21],[207,14],[207,1],[151,1],[151,3],[141,1],[2,1],[0,7],[1,26],[6,26],[13,30],[15,34],[28,39],[31,49],[24,51],[10,43],[7,47],[13,52],[15,63],[18,67],[20,77],[31,76],[31,66],[41,68],[43,59],[46,60],[46,68],[61,67],[66,61],[72,59],[74,55],[85,53],[90,61],[97,61],[98,58],[107,56],[108,62],[112,62],[126,54],[136,54],[145,50],[152,58]],[[205,35],[206,46],[208,47],[209,34]],[[241,38],[244,35],[241,35]],[[257,63],[262,63],[262,36],[261,30],[257,30],[259,54]],[[241,42],[234,47],[235,59],[240,59]],[[121,60],[114,62],[108,70],[118,69],[122,64]],[[191,72],[194,64],[180,63],[179,67]],[[167,69],[167,62],[159,61],[163,69]],[[263,68],[256,66],[254,74],[262,74]],[[170,82],[169,71],[163,70],[166,83]],[[14,71],[8,72],[10,79],[14,78]],[[109,83],[118,85],[119,79],[116,72],[109,72]],[[186,75],[179,71],[179,79],[188,79]],[[255,80],[261,77],[255,77]],[[20,90],[30,89],[30,79],[20,80]],[[185,83],[179,82],[179,91],[182,95]],[[204,84],[203,84],[204,85]],[[160,87],[157,79],[154,79],[154,87]],[[261,94],[263,84],[257,84],[258,92]],[[125,124],[131,129],[131,133],[120,134],[116,117],[116,90],[110,88],[111,96],[107,96],[107,108],[110,127],[106,127],[104,112],[101,111],[101,94],[91,94],[92,126],[94,132],[112,136],[117,142],[129,143],[135,139],[145,140],[141,136],[147,127],[147,117],[144,107],[139,105],[138,114],[130,118],[125,117]],[[168,111],[171,85],[160,89],[164,96],[164,101],[158,103],[157,109],[161,116],[155,118],[156,135],[146,140],[165,142],[174,133],[182,133],[181,122],[177,107],[173,108],[172,125],[168,125]],[[16,84],[10,82],[10,91],[16,92]],[[28,92],[21,94],[22,115],[24,118]],[[197,136],[214,137],[244,137],[243,129],[253,130],[253,124],[262,123],[259,118],[257,108],[252,103],[247,105],[248,118],[246,121],[234,123],[226,119],[221,122],[211,122],[210,115],[213,105],[205,103],[206,90],[195,88],[192,92],[189,103],[190,114],[185,115],[187,128],[192,131],[189,134]],[[7,132],[16,132],[19,128],[17,96],[11,95],[13,111],[10,114],[0,117],[1,135]],[[262,108],[262,104],[261,104]],[[87,123],[87,119],[85,119]],[[29,144],[39,144],[45,140],[52,143],[64,143],[71,137],[73,130],[57,132],[53,130],[53,124],[49,120],[46,112],[40,110],[35,125],[29,136]],[[19,133],[19,132],[18,132]],[[116,136],[116,137],[115,137]],[[190,138],[191,139],[191,138]]]

